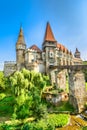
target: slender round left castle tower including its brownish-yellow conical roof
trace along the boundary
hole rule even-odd
[[[16,43],[16,63],[17,63],[17,69],[21,69],[24,67],[24,62],[25,62],[25,49],[26,49],[26,44],[24,40],[24,35],[23,35],[23,30],[20,28],[18,40]]]

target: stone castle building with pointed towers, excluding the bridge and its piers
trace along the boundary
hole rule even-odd
[[[82,64],[78,49],[76,48],[75,54],[73,55],[64,45],[58,43],[50,24],[47,23],[42,50],[37,45],[32,45],[27,48],[23,30],[20,28],[16,43],[16,62],[6,61],[4,63],[4,73],[8,76],[16,70],[26,68],[48,74],[50,65],[62,66],[77,64]]]

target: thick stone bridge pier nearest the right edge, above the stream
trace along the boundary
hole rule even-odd
[[[85,78],[82,70],[71,70],[69,72],[69,102],[79,113],[85,109],[86,95]]]

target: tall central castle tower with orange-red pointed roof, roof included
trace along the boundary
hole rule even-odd
[[[56,40],[51,30],[50,24],[47,23],[44,42],[42,44],[43,52],[45,52],[45,64],[46,73],[48,73],[48,67],[55,64],[55,48]]]

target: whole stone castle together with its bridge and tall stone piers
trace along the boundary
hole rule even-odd
[[[26,68],[50,76],[52,86],[66,90],[66,77],[69,84],[69,102],[77,112],[85,109],[87,93],[80,52],[76,48],[73,55],[65,46],[58,43],[47,23],[42,50],[36,45],[27,48],[23,30],[20,28],[16,43],[16,62],[5,62],[4,73],[9,76],[17,70]],[[67,76],[66,76],[67,75]],[[59,100],[59,99],[58,99]]]

